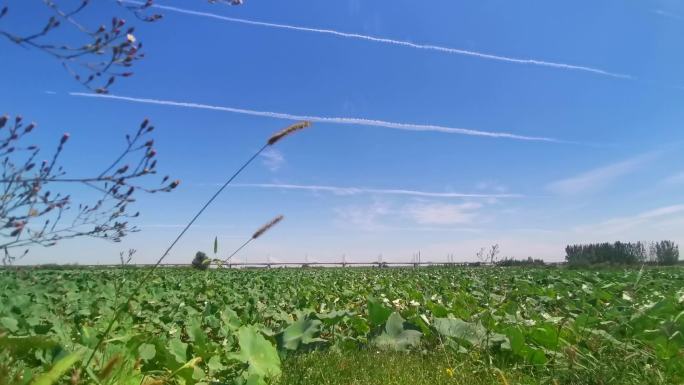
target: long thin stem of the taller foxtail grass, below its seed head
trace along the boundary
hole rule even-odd
[[[83,367],[86,367],[86,368],[87,368],[88,365],[90,365],[90,362],[93,360],[93,357],[95,357],[95,353],[96,353],[97,350],[100,348],[100,346],[102,346],[102,342],[107,338],[107,336],[109,335],[109,332],[112,330],[112,327],[114,327],[114,324],[119,320],[119,317],[121,317],[121,314],[123,313],[123,309],[127,309],[127,308],[129,307],[131,301],[133,300],[133,298],[135,297],[135,295],[138,293],[138,291],[140,291],[140,289],[142,288],[142,286],[143,286],[143,285],[147,282],[147,280],[152,276],[152,273],[154,273],[154,270],[162,263],[162,261],[164,260],[164,258],[166,258],[166,256],[169,255],[169,253],[171,252],[171,249],[173,249],[173,247],[178,243],[178,241],[180,241],[180,239],[183,237],[183,235],[185,235],[185,233],[188,231],[188,229],[190,229],[190,226],[192,226],[192,225],[195,223],[195,221],[197,221],[197,219],[200,217],[200,215],[202,215],[202,213],[207,209],[207,207],[209,207],[209,205],[210,205],[210,204],[211,204],[211,203],[212,203],[212,202],[213,202],[213,201],[214,201],[214,200],[223,192],[223,190],[225,190],[226,187],[228,187],[228,185],[229,185],[229,184],[230,184],[238,175],[240,175],[240,173],[241,173],[245,168],[247,168],[247,166],[249,166],[249,164],[252,163],[252,162],[254,161],[254,159],[256,159],[256,157],[259,156],[259,155],[266,149],[266,147],[268,147],[268,146],[269,146],[269,145],[268,145],[268,143],[267,143],[267,144],[265,144],[263,147],[261,147],[261,148],[259,149],[259,151],[257,151],[256,153],[254,153],[254,155],[252,155],[252,157],[249,158],[249,160],[247,160],[247,161],[246,161],[246,162],[245,162],[245,163],[244,163],[244,164],[243,164],[243,165],[242,165],[242,166],[241,166],[241,167],[240,167],[240,168],[239,168],[239,169],[238,169],[238,170],[237,170],[237,171],[236,171],[236,172],[235,172],[235,173],[234,173],[234,174],[233,174],[233,175],[224,183],[224,184],[223,184],[223,186],[221,186],[221,188],[219,188],[218,191],[216,191],[216,193],[214,193],[214,195],[212,195],[211,198],[209,198],[209,200],[202,206],[202,208],[197,212],[197,214],[195,214],[195,216],[192,217],[192,219],[190,220],[190,222],[188,222],[188,224],[185,225],[185,227],[184,227],[183,230],[180,232],[180,234],[178,234],[178,236],[176,237],[176,239],[174,239],[173,242],[171,242],[171,244],[169,245],[169,247],[166,248],[166,251],[164,251],[164,253],[162,254],[162,256],[157,260],[157,263],[155,263],[154,266],[152,266],[152,268],[147,272],[147,274],[138,282],[138,285],[135,286],[135,288],[134,288],[133,291],[131,292],[131,295],[128,296],[128,299],[126,300],[126,302],[125,302],[124,304],[122,304],[122,306],[120,306],[120,307],[116,310],[116,312],[114,313],[114,316],[113,316],[112,319],[109,321],[109,324],[107,325],[107,328],[105,329],[105,331],[104,331],[104,333],[102,334],[102,336],[98,339],[97,344],[95,345],[95,348],[93,348],[93,352],[90,353],[90,356],[88,357],[88,360],[86,360],[86,363],[83,365]]]

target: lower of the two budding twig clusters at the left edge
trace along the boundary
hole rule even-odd
[[[3,263],[13,262],[31,246],[53,246],[64,239],[102,238],[118,242],[137,231],[128,220],[139,214],[129,213],[135,193],[168,192],[179,182],[152,187],[148,177],[157,173],[157,151],[149,138],[154,126],[143,121],[134,135],[126,135],[126,146],[113,162],[91,176],[71,177],[60,165],[69,134],[62,135],[57,148],[45,156],[38,146],[24,143],[36,129],[21,116],[0,116],[0,250]],[[44,156],[43,161],[38,161]],[[77,184],[95,194],[92,202],[75,204],[58,186]]]

